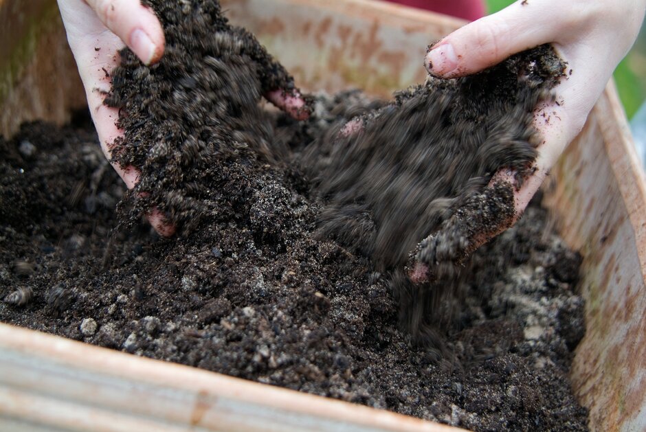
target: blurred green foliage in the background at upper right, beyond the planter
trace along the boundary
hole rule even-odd
[[[487,12],[490,14],[498,12],[511,3],[513,0],[487,0]],[[615,69],[614,80],[630,119],[646,99],[646,30],[644,27],[635,46]]]

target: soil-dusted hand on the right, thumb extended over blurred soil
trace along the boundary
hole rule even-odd
[[[519,0],[432,46],[425,64],[438,78],[476,73],[544,43],[551,43],[568,62],[566,78],[554,89],[555,100],[542,102],[535,109],[534,126],[542,144],[537,148],[534,173],[515,187],[515,214],[496,229],[469,239],[471,251],[522,215],[561,152],[583,128],[614,68],[634,43],[645,8],[645,0]],[[501,170],[489,189],[501,181],[516,184],[513,172]],[[429,275],[420,257],[418,254],[409,274],[412,280],[423,282]]]

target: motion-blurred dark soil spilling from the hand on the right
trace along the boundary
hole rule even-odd
[[[476,76],[429,78],[365,115],[358,132],[326,137],[334,141],[321,146],[329,163],[317,173],[328,202],[324,234],[368,253],[381,269],[401,268],[417,247],[417,262],[435,279],[455,273],[478,237],[510,225],[511,185],[487,192],[491,204],[480,194],[501,168],[516,173],[515,187],[531,174],[539,142],[533,111],[565,69],[544,45]],[[320,170],[313,162],[305,161]],[[353,220],[365,215],[372,223],[362,232]]]

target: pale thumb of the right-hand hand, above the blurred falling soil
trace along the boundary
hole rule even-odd
[[[562,17],[557,19],[559,10],[549,1],[517,1],[432,45],[425,66],[432,76],[456,78],[496,65],[525,49],[553,42],[555,34],[564,34],[555,27],[568,23]]]

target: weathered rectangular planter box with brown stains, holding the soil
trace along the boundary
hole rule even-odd
[[[387,96],[421,82],[425,47],[463,24],[370,0],[227,0],[304,89]],[[65,122],[83,92],[53,0],[0,0],[0,132]],[[645,178],[608,84],[545,187],[581,251],[586,337],[572,366],[594,431],[646,429]],[[454,428],[0,325],[0,430]]]

